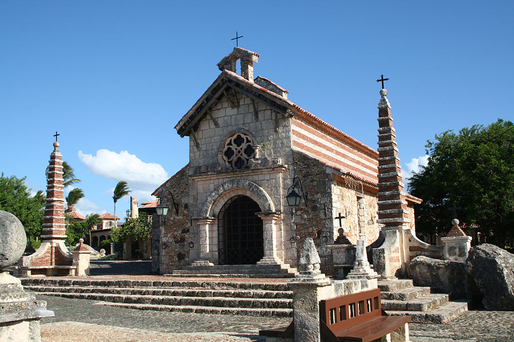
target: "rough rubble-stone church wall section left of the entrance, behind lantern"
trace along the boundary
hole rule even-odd
[[[178,203],[178,215],[175,212],[171,196],[166,191],[162,197],[167,198],[169,208],[166,216],[166,228],[164,222],[160,223],[160,236],[158,246],[160,248],[160,274],[171,273],[182,266],[189,265],[190,221],[189,221],[189,179],[188,168],[185,167],[176,173],[163,188],[168,189]],[[161,200],[163,198],[161,197]],[[166,245],[163,249],[162,246]]]

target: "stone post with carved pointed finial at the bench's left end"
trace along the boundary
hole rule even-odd
[[[300,273],[287,284],[293,291],[295,342],[320,342],[319,301],[334,297],[334,287],[320,272],[320,257],[308,237],[300,254]]]

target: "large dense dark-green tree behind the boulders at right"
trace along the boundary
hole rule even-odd
[[[446,131],[428,140],[428,165],[410,178],[409,192],[424,202],[416,206],[416,230],[445,233],[457,218],[478,225],[480,243],[504,248],[514,239],[514,124],[475,125],[458,134]],[[474,239],[474,243],[479,243]]]

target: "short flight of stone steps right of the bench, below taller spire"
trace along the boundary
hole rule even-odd
[[[414,323],[441,324],[468,311],[468,300],[450,301],[448,294],[415,287],[412,279],[379,280],[382,309],[389,315],[411,315]]]

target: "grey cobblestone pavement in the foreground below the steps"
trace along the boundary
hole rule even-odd
[[[43,318],[42,342],[265,341],[259,329],[290,318],[141,311],[95,305],[95,301],[39,295],[55,317]],[[410,324],[412,342],[514,341],[514,312],[468,311],[447,325]]]

